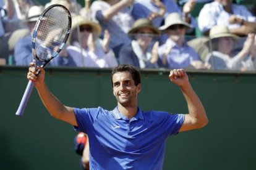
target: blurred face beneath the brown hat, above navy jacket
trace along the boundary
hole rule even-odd
[[[140,47],[147,48],[154,36],[150,28],[141,28],[137,31],[136,39]]]

